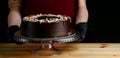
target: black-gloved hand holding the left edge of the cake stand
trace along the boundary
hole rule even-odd
[[[18,42],[16,40],[14,40],[14,34],[19,30],[20,30],[20,28],[17,25],[8,27],[8,39],[10,42],[14,42],[16,44],[22,44],[22,42]]]

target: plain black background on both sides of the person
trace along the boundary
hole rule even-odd
[[[0,42],[7,39],[7,0],[0,1]],[[88,30],[83,42],[119,43],[120,9],[117,0],[87,0],[89,11]]]

